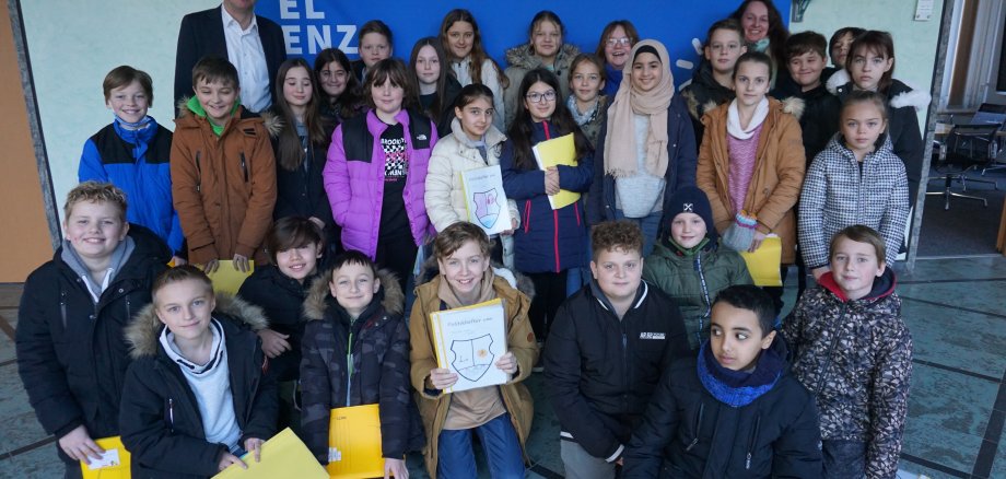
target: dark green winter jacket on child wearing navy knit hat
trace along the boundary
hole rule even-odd
[[[700,271],[705,278],[703,288]],[[688,346],[699,350],[709,339],[709,313],[716,294],[733,284],[753,284],[748,266],[736,252],[705,248],[688,257],[657,242],[643,262],[643,279],[674,297],[685,318]]]

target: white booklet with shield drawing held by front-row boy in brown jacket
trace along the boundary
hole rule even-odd
[[[510,374],[496,367],[506,354],[506,314],[499,299],[430,314],[436,364],[457,374],[444,393],[505,384]]]

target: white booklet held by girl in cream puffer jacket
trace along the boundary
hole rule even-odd
[[[468,222],[479,225],[487,235],[510,230],[510,208],[506,205],[506,192],[503,191],[500,165],[468,170],[458,174],[461,175]]]

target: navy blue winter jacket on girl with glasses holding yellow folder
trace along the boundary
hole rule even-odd
[[[534,124],[531,143],[561,137],[549,121]],[[514,164],[514,144],[503,143],[500,155],[503,189],[506,198],[516,201],[520,211],[520,227],[514,232],[514,266],[520,272],[559,272],[587,265],[587,230],[583,215],[583,199],[559,210],[552,210],[545,194],[545,172],[520,168]],[[570,191],[587,191],[594,175],[590,155],[574,166],[559,166],[559,186]]]

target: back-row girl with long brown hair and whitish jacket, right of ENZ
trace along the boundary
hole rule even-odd
[[[492,126],[503,131],[503,90],[510,82],[503,69],[486,54],[475,16],[464,9],[447,12],[441,23],[440,37],[458,83],[461,86],[482,84],[492,92]]]

